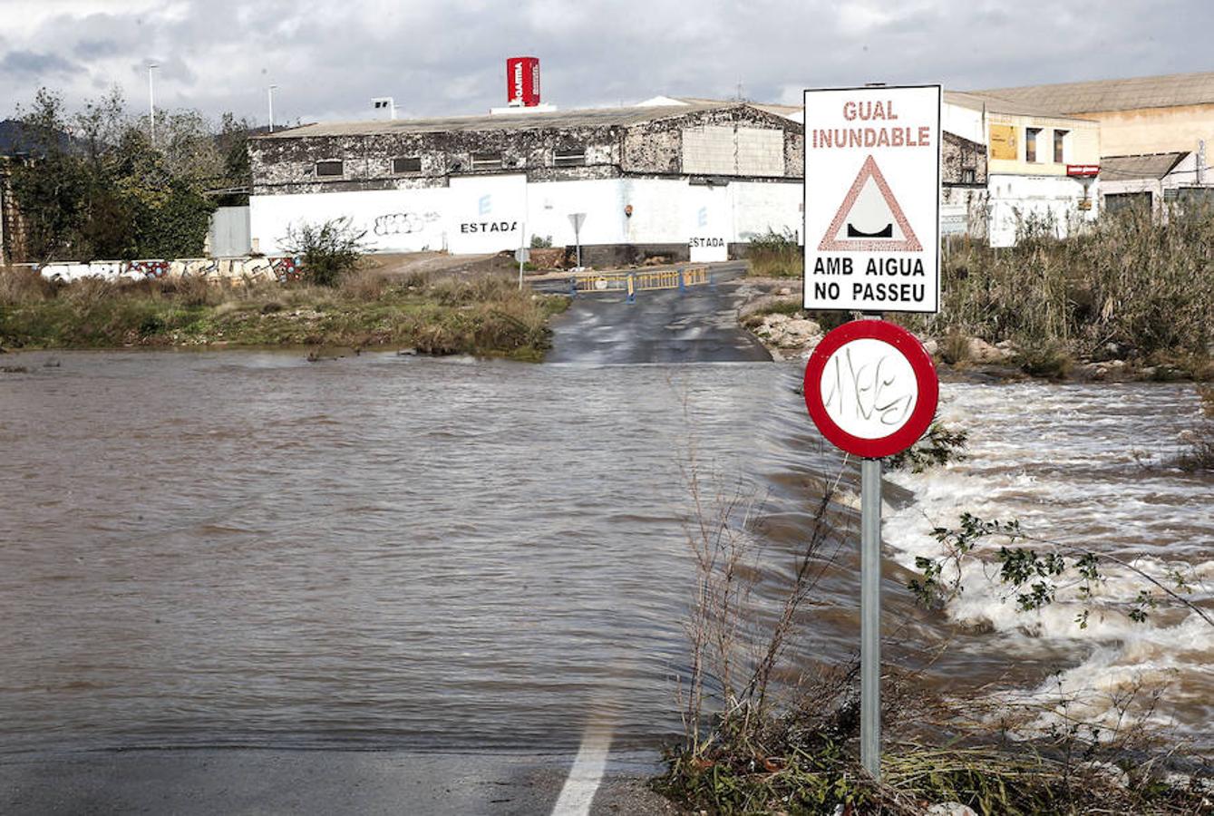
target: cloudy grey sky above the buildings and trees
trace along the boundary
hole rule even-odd
[[[1212,0],[0,0],[0,118],[39,86],[266,120],[483,113],[505,58],[562,108],[658,93],[799,101],[802,87],[965,90],[1214,69]]]

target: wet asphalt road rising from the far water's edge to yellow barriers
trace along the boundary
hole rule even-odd
[[[738,325],[743,264],[717,265],[713,284],[636,293],[583,293],[552,325],[550,363],[635,364],[770,361]]]

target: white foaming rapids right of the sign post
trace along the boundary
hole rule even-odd
[[[1209,738],[1214,628],[1141,574],[1172,589],[1182,577],[1180,594],[1214,617],[1214,480],[1169,464],[1197,413],[1191,386],[946,385],[941,418],[969,431],[969,458],[889,476],[914,494],[886,510],[885,525],[890,555],[912,571],[917,557],[944,555],[930,531],[958,527],[961,512],[1016,518],[1034,539],[1022,544],[1040,551],[1077,548],[1128,565],[1105,561],[1107,580],[1090,601],[1078,585],[1061,585],[1037,612],[1017,611],[1011,588],[989,579],[1003,540],[983,540],[963,566],[965,590],[946,608],[953,620],[993,629],[1014,659],[1065,667],[1034,688],[1008,691],[1042,708],[1037,727],[1077,715],[1112,727],[1133,696],[1131,710]],[[1129,617],[1140,591],[1159,601],[1144,623]],[[1152,708],[1156,696],[1165,704]]]

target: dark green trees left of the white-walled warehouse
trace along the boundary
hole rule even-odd
[[[117,87],[75,112],[44,87],[19,114],[10,183],[29,260],[200,257],[215,208],[248,198],[223,192],[250,178],[251,126],[231,114],[158,112],[154,141]]]

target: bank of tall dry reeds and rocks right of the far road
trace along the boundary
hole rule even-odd
[[[1214,211],[1174,209],[1164,222],[1130,210],[1070,238],[1054,232],[1027,222],[1008,249],[954,239],[942,256],[940,312],[891,319],[934,340],[951,365],[997,363],[1054,379],[1214,378]],[[796,280],[781,280],[801,274],[793,238],[767,236],[750,255],[753,276],[792,291],[744,310],[748,327],[800,312]],[[824,330],[838,314],[800,317]],[[783,333],[767,334],[779,336],[759,336],[779,348]],[[796,340],[785,346],[794,355]]]

